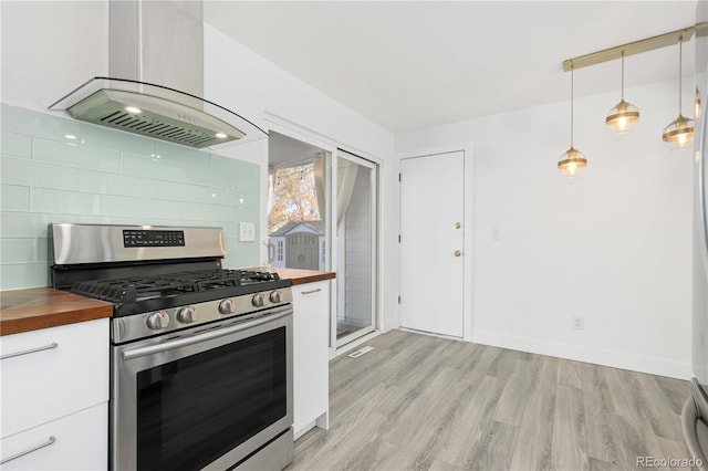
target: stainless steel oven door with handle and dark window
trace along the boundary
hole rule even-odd
[[[290,431],[291,305],[111,353],[114,470],[227,469]]]

